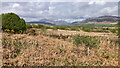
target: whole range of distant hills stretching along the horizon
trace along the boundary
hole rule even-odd
[[[85,18],[84,18],[85,19]],[[120,17],[117,16],[100,16],[95,18],[87,18],[82,21],[76,21],[73,23],[68,23],[64,20],[52,20],[52,19],[41,19],[40,21],[31,21],[27,23],[32,24],[43,24],[43,25],[79,25],[79,24],[116,24]]]

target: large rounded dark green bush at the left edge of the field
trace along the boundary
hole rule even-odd
[[[2,29],[14,30],[15,32],[25,31],[26,23],[24,19],[21,19],[14,13],[2,14]]]

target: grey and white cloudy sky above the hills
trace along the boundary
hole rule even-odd
[[[1,13],[14,12],[26,21],[118,15],[118,2],[3,2]]]

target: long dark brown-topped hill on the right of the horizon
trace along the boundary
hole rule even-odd
[[[96,18],[88,18],[83,21],[77,21],[73,22],[72,24],[81,24],[81,23],[88,23],[88,22],[118,22],[120,20],[120,17],[117,16],[100,16]]]

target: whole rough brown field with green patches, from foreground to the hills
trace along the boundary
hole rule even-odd
[[[117,66],[116,25],[41,26],[3,32],[4,66]]]

